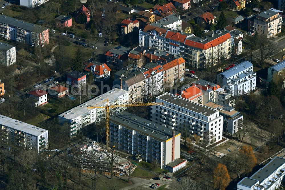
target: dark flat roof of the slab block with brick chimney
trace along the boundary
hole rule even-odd
[[[164,127],[126,111],[110,117],[110,122],[123,125],[128,129],[139,131],[142,134],[152,136],[161,141],[172,138],[172,128]]]

